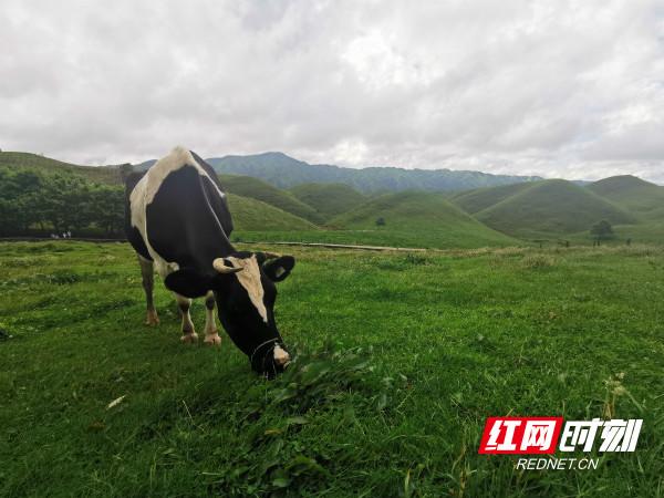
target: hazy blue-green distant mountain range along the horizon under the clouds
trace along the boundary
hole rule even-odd
[[[396,167],[345,168],[329,164],[309,164],[283,153],[206,159],[220,174],[260,178],[279,188],[301,184],[345,184],[366,194],[402,190],[453,191],[539,180],[536,176],[491,175],[450,169],[403,169]],[[137,168],[147,168],[147,160]]]

